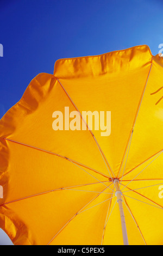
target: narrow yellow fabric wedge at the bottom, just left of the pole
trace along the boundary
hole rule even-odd
[[[106,189],[104,192],[111,191]],[[66,225],[50,245],[101,245],[106,214],[110,206],[109,198],[111,194],[100,194]]]

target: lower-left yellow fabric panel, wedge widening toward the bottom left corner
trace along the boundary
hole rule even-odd
[[[20,220],[18,221],[21,226],[20,232],[23,233],[27,229],[26,236],[32,245],[47,245],[53,236],[72,217],[76,216],[79,210],[82,210],[99,194],[98,192],[80,191],[83,187],[78,189],[79,191],[61,190],[30,197],[1,206],[1,210],[5,209],[7,213],[10,212],[11,221]],[[87,191],[103,191],[104,189],[105,186],[101,184],[85,186]],[[16,237],[14,238],[15,244],[24,244],[24,241],[17,241]]]

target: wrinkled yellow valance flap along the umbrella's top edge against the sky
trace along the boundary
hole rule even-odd
[[[58,78],[94,77],[126,69],[140,68],[151,62],[152,53],[147,45],[135,46],[127,50],[109,52],[98,56],[59,59],[55,62],[54,74]],[[159,60],[160,62],[160,60]]]

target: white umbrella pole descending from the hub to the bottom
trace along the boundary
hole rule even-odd
[[[124,245],[129,245],[128,243],[128,236],[127,236],[127,229],[126,229],[126,222],[124,217],[124,211],[123,211],[123,204],[122,204],[122,192],[119,187],[119,181],[114,181],[115,188],[116,188],[116,197],[117,197],[117,203],[119,205],[120,209],[120,216],[121,216],[121,225],[122,225],[122,234],[123,234],[123,243]]]

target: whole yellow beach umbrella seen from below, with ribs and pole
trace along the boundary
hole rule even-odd
[[[162,71],[143,45],[30,82],[0,121],[0,227],[15,245],[163,244]]]

